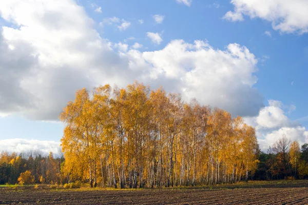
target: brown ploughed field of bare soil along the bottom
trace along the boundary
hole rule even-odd
[[[308,181],[142,190],[0,189],[0,204],[308,204]]]

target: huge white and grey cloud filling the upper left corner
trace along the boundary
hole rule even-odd
[[[101,84],[124,68],[92,19],[71,1],[0,1],[0,14],[12,24],[0,34],[1,113],[57,119],[76,89],[91,89],[94,78],[106,76]]]

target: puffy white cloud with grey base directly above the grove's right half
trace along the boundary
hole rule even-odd
[[[196,97],[200,103],[220,107],[234,116],[256,115],[263,106],[263,97],[253,88],[257,59],[238,44],[229,44],[222,51],[200,40],[194,44],[172,40],[162,50],[129,51],[128,56],[132,68],[150,70],[150,79],[143,81],[163,85],[168,91],[172,88],[186,100]]]

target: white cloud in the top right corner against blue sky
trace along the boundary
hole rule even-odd
[[[282,33],[308,32],[308,1],[306,0],[232,0],[234,11],[224,18],[243,20],[243,15],[261,18],[272,23]]]

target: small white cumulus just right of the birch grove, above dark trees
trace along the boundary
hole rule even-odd
[[[298,140],[300,145],[308,142],[306,128],[285,115],[293,110],[294,105],[287,106],[278,100],[268,100],[268,106],[261,109],[258,116],[244,118],[246,124],[256,128],[262,151],[266,151],[284,135],[292,141]]]

